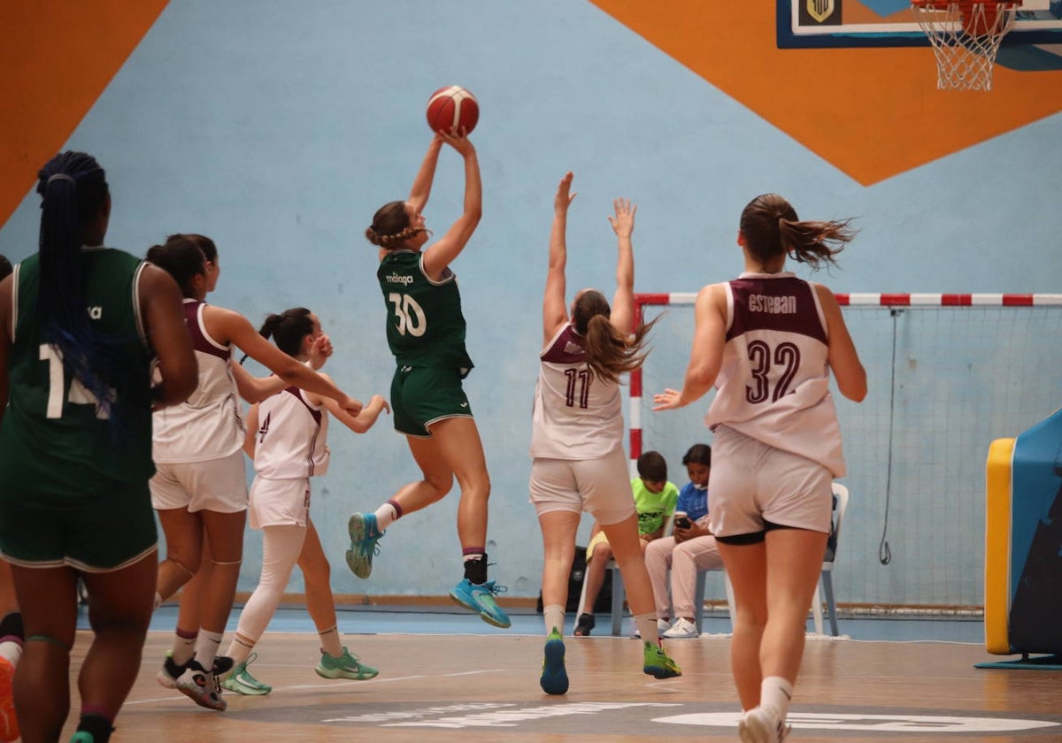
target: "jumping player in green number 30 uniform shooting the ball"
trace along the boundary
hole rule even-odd
[[[427,245],[422,213],[431,194],[443,144],[464,159],[464,210],[446,234]],[[461,294],[450,263],[461,255],[482,214],[483,187],[476,148],[465,133],[436,133],[413,180],[409,198],[380,207],[365,230],[379,246],[376,276],[388,308],[388,343],[397,368],[391,382],[395,430],[406,435],[423,478],[404,486],[375,513],[355,514],[348,531],[347,565],[369,577],[383,531],[405,514],[441,500],[461,485],[458,537],[464,578],[450,591],[461,606],[498,627],[510,625],[495,593],[503,590],[486,580],[486,521],[491,479],[483,444],[461,380],[472,370],[465,350]],[[427,245],[427,247],[426,247]]]

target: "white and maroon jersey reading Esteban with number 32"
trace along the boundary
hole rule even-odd
[[[815,287],[777,273],[741,274],[725,288],[726,345],[705,422],[806,456],[842,477],[826,319]]]

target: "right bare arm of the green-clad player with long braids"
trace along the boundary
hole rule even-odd
[[[153,390],[153,402],[160,408],[178,404],[199,384],[199,363],[185,325],[181,289],[168,273],[151,263],[140,272],[137,289],[140,314],[162,377]]]

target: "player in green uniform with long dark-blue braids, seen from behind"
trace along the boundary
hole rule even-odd
[[[0,281],[0,549],[25,635],[15,704],[22,740],[58,740],[81,580],[95,639],[71,740],[105,743],[155,592],[151,411],[191,394],[196,363],[176,282],[103,247],[110,194],[96,159],[65,152],[37,177],[39,249]]]

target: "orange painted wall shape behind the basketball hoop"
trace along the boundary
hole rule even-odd
[[[778,49],[766,0],[590,0],[864,186],[1062,110],[1062,71],[937,90],[928,48]]]

